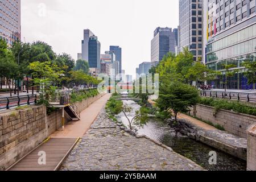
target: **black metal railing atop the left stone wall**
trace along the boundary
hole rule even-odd
[[[31,104],[36,104],[36,94],[14,97],[0,97],[0,110]]]

